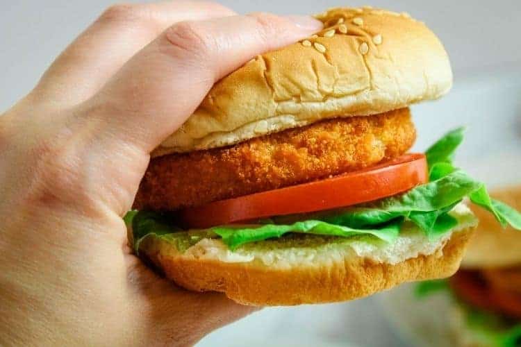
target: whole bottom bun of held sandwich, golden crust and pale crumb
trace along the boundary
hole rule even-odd
[[[255,258],[237,255],[227,249],[226,253],[217,255],[222,251],[216,250],[216,245],[222,244],[220,240],[206,239],[213,246],[207,246],[204,252],[199,249],[196,254],[190,250],[181,253],[172,242],[148,237],[142,242],[140,256],[158,266],[167,278],[181,287],[193,291],[221,291],[233,301],[245,305],[331,303],[362,298],[403,282],[451,276],[458,269],[473,229],[474,223],[467,223],[461,230],[440,240],[429,255],[415,251],[414,255],[408,255],[402,261],[382,262],[382,257],[375,260],[374,257],[360,256],[360,247],[356,253],[347,252],[347,248],[354,246],[336,241],[338,238],[324,241],[323,237],[315,237],[322,243],[310,246],[313,235],[258,242],[251,246],[257,247]],[[420,232],[416,234],[421,235]],[[298,247],[302,239],[307,242],[307,253]],[[317,242],[315,239],[313,242]],[[266,246],[270,242],[275,246]],[[281,247],[284,242],[291,246]],[[413,246],[406,242],[401,245],[407,251],[411,251]],[[265,256],[268,253],[270,261],[258,259],[259,254]]]

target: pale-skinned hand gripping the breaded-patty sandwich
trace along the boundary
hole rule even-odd
[[[149,270],[122,216],[213,83],[320,28],[176,1],[113,6],[72,42],[0,116],[0,345],[186,346],[251,313]]]

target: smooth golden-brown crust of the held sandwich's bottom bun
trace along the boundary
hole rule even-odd
[[[362,257],[341,260],[331,257],[311,264],[302,262],[299,266],[204,260],[169,252],[164,244],[152,238],[142,245],[141,256],[181,287],[221,291],[245,305],[331,303],[369,296],[403,282],[451,276],[458,269],[473,229],[454,232],[438,252],[397,264]]]

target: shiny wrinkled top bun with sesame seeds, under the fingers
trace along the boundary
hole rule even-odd
[[[152,153],[210,149],[321,119],[374,115],[452,86],[443,45],[406,13],[334,8],[317,36],[257,56],[216,83]]]

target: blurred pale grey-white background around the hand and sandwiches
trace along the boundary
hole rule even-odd
[[[455,75],[448,96],[413,107],[416,149],[424,150],[447,130],[465,125],[468,134],[458,164],[489,187],[521,183],[519,0],[219,2],[242,13],[308,14],[361,5],[409,12],[438,34]],[[111,3],[2,0],[0,112],[31,90],[60,51]],[[269,308],[218,330],[199,346],[432,346],[404,332],[403,317],[415,316],[408,300],[384,293],[351,303]],[[436,314],[436,305],[431,308]]]

